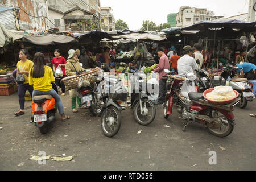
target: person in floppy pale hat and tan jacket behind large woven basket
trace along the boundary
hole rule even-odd
[[[65,65],[65,71],[67,76],[79,75],[81,72],[85,71],[84,68],[80,66],[79,59],[77,56],[80,55],[79,50],[69,50],[67,64]],[[77,89],[69,90],[69,96],[71,96],[71,108],[73,113],[77,113],[76,102],[79,109],[83,109],[81,99],[77,96]]]

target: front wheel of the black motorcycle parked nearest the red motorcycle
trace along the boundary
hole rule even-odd
[[[142,99],[142,113],[139,101],[134,106],[134,118],[141,125],[149,125],[155,119],[156,109],[152,101]]]

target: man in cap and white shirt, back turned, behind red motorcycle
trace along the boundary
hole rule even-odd
[[[196,60],[193,57],[191,57],[194,50],[195,49],[193,49],[189,45],[183,48],[184,56],[180,57],[177,67],[179,75],[182,77],[186,77],[188,73],[193,73],[194,69],[198,69]],[[195,80],[196,76],[194,75],[191,78]]]

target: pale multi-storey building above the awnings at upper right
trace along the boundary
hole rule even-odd
[[[181,6],[176,15],[176,27],[189,26],[200,21],[213,21],[222,17],[214,16],[213,11],[208,11],[205,8]]]

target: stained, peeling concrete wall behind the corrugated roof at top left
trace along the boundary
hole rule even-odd
[[[2,0],[0,6],[20,7],[32,16],[48,16],[48,6],[46,0]],[[29,30],[38,28],[44,30],[44,18],[34,18],[27,15],[24,11],[19,11],[20,30]],[[46,28],[48,27],[48,19],[46,19]]]

